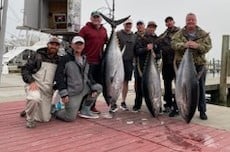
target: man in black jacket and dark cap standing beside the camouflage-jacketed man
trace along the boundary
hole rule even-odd
[[[167,29],[159,36],[158,46],[162,51],[162,76],[164,80],[164,104],[165,112],[170,112],[169,116],[173,117],[178,114],[175,96],[172,93],[172,81],[175,79],[173,68],[174,50],[171,47],[172,36],[179,31],[171,16],[165,18]],[[174,99],[174,100],[172,100]]]

